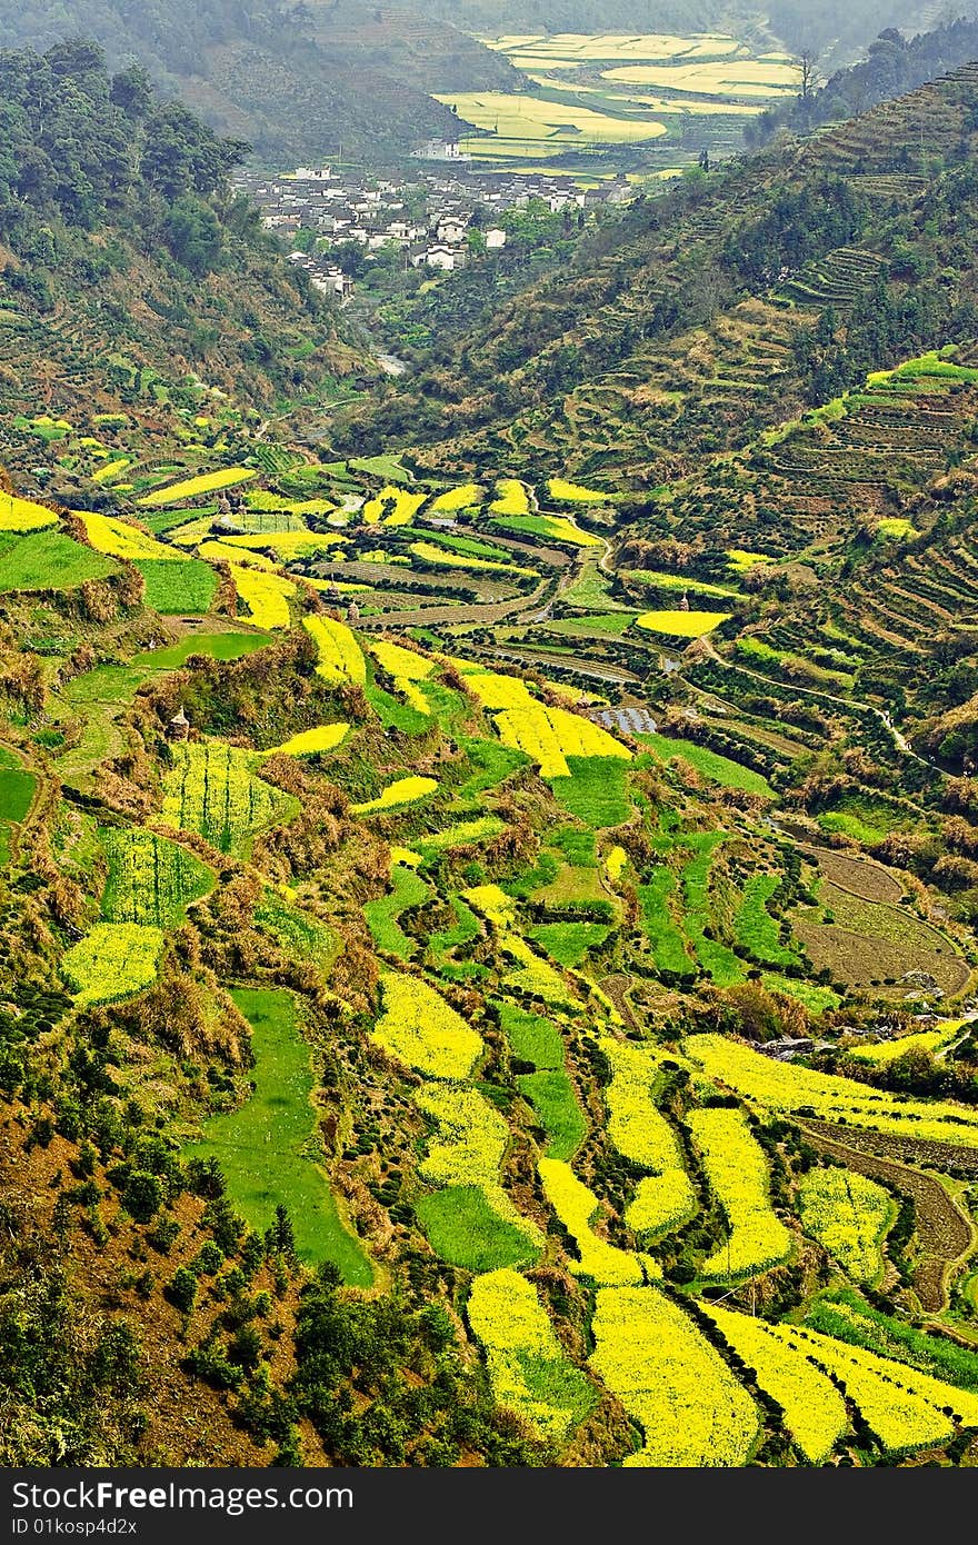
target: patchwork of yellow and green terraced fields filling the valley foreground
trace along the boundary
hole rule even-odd
[[[542,1463],[740,1465],[769,1441],[899,1463],[959,1458],[978,1431],[952,1367],[912,1366],[888,1332],[853,1350],[819,1318],[853,1293],[972,1333],[972,942],[895,862],[947,834],[947,780],[908,774],[859,695],[867,633],[819,586],[850,552],[851,482],[817,531],[814,494],[776,533],[757,513],[793,476],[765,454],[933,477],[935,413],[961,433],[969,369],[927,357],[859,394],[922,416],[907,459],[842,453],[865,408],[847,399],[660,487],[660,527],[620,522],[624,490],[562,462],[479,484],[406,453],[269,470],[229,425],[227,465],[151,476],[144,431],[121,430],[116,516],[5,535],[8,562],[60,539],[43,589],[14,556],[3,601],[17,658],[42,661],[14,674],[0,769],[15,949],[57,959],[40,1034],[97,1048],[111,1023],[139,1049],[119,1098],[195,1183],[216,1162],[269,1272],[331,1262],[363,1304],[451,1290],[451,1335]],[[247,497],[190,502],[241,468]],[[867,514],[853,573],[885,542],[936,555],[925,504],[919,538]],[[57,933],[32,932],[39,893]],[[929,1040],[938,1003],[959,1023]],[[890,1018],[910,1058],[850,1055],[888,1046]],[[2,1068],[31,1055],[9,1024]],[[193,1259],[202,1282],[216,1258]],[[249,1357],[229,1301],[184,1289],[196,1366],[215,1377],[218,1343]]]

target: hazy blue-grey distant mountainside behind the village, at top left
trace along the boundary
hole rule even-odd
[[[423,71],[402,68],[397,26],[392,68],[380,68],[375,53],[331,53],[328,36],[314,40],[312,25],[286,0],[0,0],[6,46],[96,39],[113,68],[145,65],[221,133],[275,161],[326,158],[340,144],[351,153],[406,154],[426,136],[451,131],[454,119],[426,94]],[[488,49],[471,45],[465,57],[474,87],[505,74]]]

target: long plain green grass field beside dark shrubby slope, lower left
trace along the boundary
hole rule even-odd
[[[304,1261],[332,1261],[351,1287],[371,1287],[372,1267],[340,1222],[326,1174],[307,1154],[317,1126],[315,1080],[295,1003],[278,989],[238,987],[232,997],[252,1026],[255,1092],[241,1109],[212,1115],[202,1142],[190,1143],[184,1157],[218,1159],[229,1197],[252,1228],[266,1230],[281,1202]]]

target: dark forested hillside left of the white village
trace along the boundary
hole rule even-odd
[[[141,68],[110,76],[83,42],[3,53],[0,114],[8,413],[155,402],[193,374],[260,408],[357,366],[229,193],[244,147],[156,97]]]

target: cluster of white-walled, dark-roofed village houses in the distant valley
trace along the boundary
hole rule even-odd
[[[434,150],[442,153],[436,154]],[[477,205],[484,210],[482,236],[487,250],[507,243],[504,226],[496,221],[508,209],[525,207],[531,198],[552,210],[584,209],[593,202],[624,202],[633,188],[621,179],[599,192],[582,193],[570,178],[545,175],[479,173],[456,145],[422,147],[422,162],[437,162],[437,170],[419,170],[409,181],[372,178],[368,173],[334,171],[332,167],[298,167],[287,175],[244,171],[238,182],[261,207],[267,230],[289,239],[300,230],[314,230],[331,243],[355,241],[365,252],[383,247],[403,252],[405,266],[451,272],[468,256],[468,229]],[[423,216],[413,218],[423,193]],[[292,253],[317,289],[345,300],[352,280],[317,252]]]

